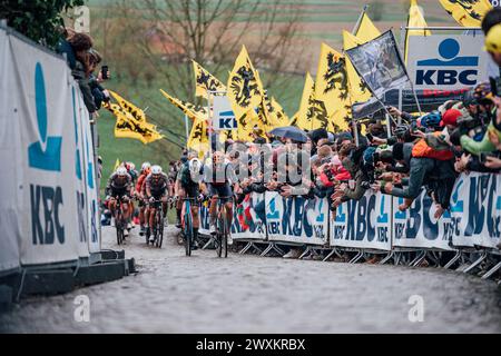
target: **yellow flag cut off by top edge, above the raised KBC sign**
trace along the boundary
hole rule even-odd
[[[464,27],[480,27],[492,6],[489,0],[440,0],[445,11]]]

